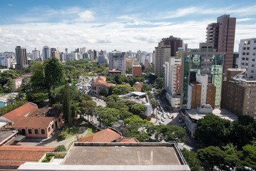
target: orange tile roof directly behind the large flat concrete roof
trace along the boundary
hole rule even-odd
[[[94,133],[93,135],[81,138],[79,142],[113,142],[114,140],[117,140],[121,137],[121,133],[117,133],[110,128],[106,128],[105,130],[101,130],[98,133]]]

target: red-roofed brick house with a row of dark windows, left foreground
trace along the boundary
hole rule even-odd
[[[19,130],[26,137],[48,138],[61,123],[61,110],[38,109],[26,117],[18,118],[12,128]]]

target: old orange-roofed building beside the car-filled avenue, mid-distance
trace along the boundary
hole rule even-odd
[[[93,95],[99,95],[102,86],[109,88],[111,86],[113,86],[113,87],[116,86],[116,84],[107,83],[106,77],[99,76],[98,78],[96,78],[95,81],[91,82],[91,93]]]

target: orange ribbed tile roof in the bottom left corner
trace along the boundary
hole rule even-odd
[[[46,152],[52,152],[56,147],[4,145],[0,147],[1,167],[19,167],[24,162],[37,162]]]

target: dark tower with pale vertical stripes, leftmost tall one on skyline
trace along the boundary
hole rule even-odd
[[[24,66],[28,65],[28,61],[26,58],[26,48],[21,48],[21,46],[16,46],[15,48],[16,53],[16,66],[18,69],[23,68]]]

